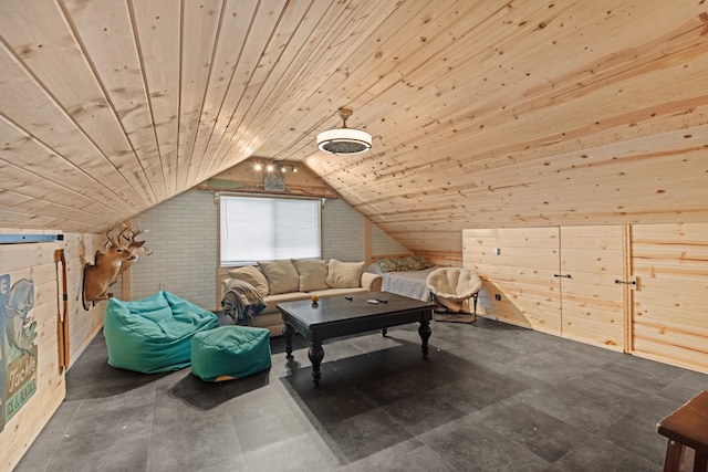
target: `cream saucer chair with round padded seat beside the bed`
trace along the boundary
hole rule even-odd
[[[482,280],[475,272],[462,268],[441,268],[430,272],[425,282],[430,291],[430,300],[438,305],[433,316],[436,321],[477,321],[477,294],[482,289]],[[470,298],[473,306],[471,311]]]

